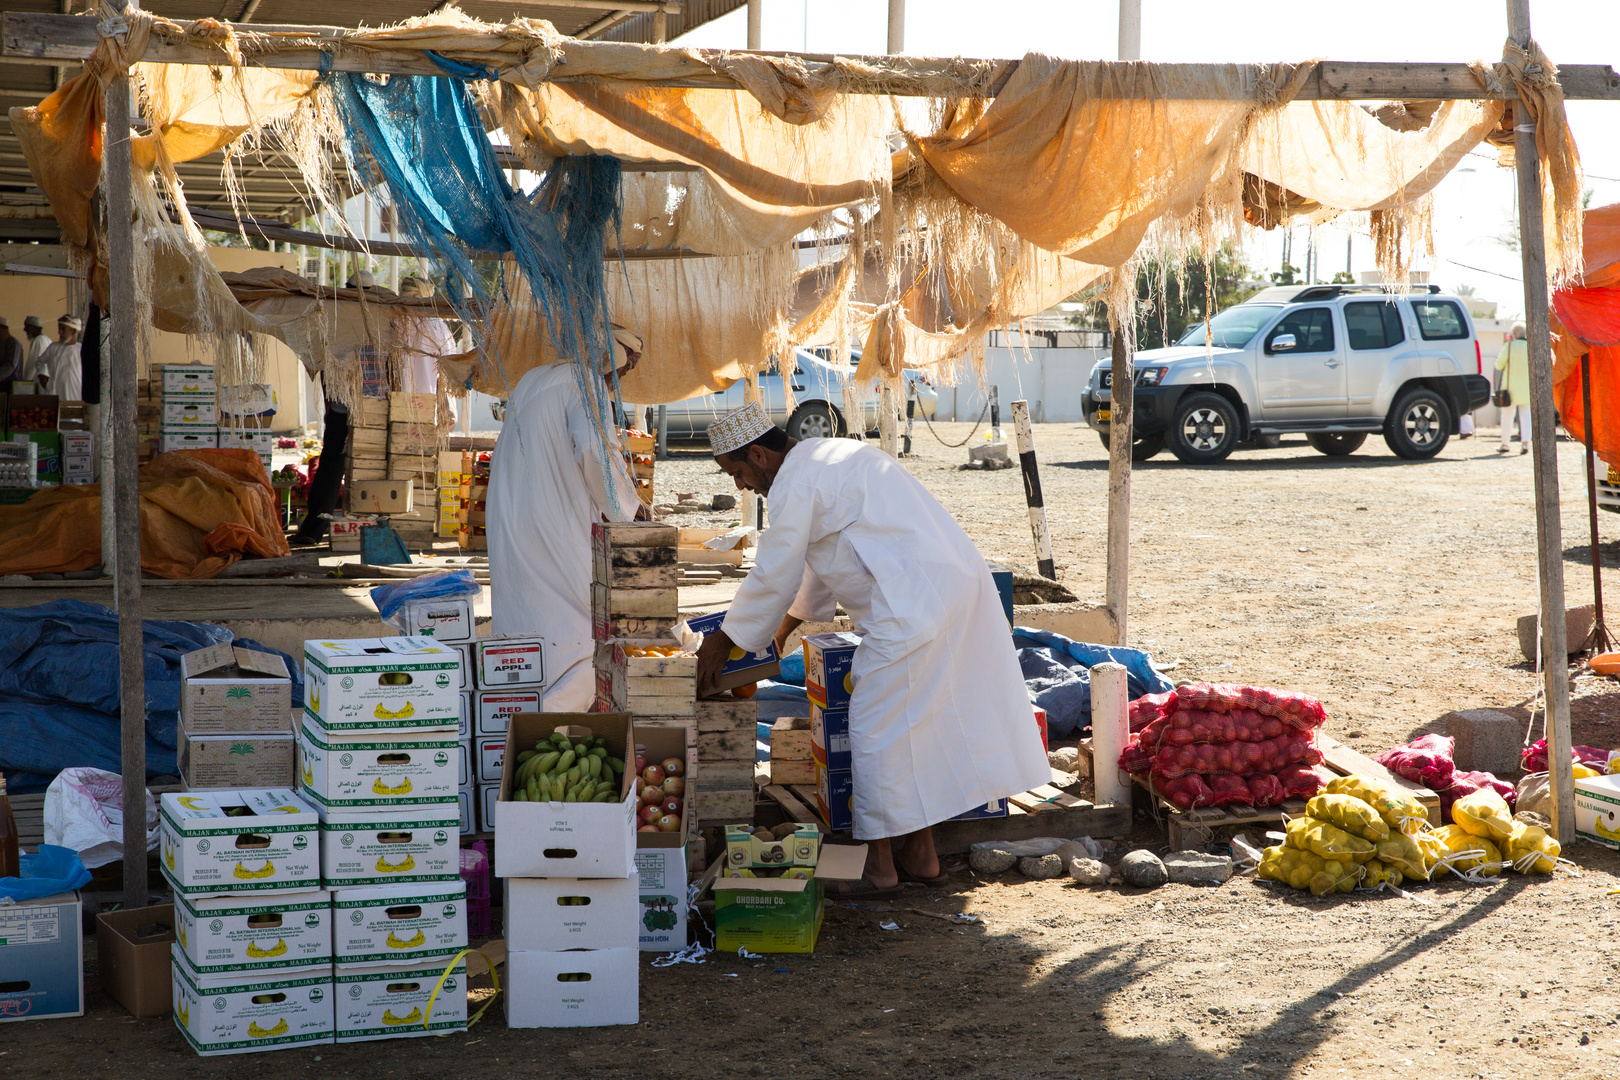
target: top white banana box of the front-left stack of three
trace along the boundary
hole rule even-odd
[[[160,816],[164,878],[175,892],[209,897],[321,887],[314,808],[287,789],[165,792]]]

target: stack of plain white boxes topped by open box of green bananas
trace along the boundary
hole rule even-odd
[[[507,1027],[640,1018],[633,742],[624,712],[520,712],[507,727],[494,803]],[[599,764],[582,766],[586,758]],[[539,782],[549,785],[544,798]],[[557,800],[559,787],[572,784],[567,795],[586,782],[603,789],[590,801]]]

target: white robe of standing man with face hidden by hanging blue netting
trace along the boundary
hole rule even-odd
[[[492,628],[546,640],[548,712],[586,712],[596,699],[591,523],[630,521],[642,505],[575,379],[575,366],[564,363],[518,381],[486,504]]]

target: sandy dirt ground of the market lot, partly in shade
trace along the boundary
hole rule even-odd
[[[938,434],[959,440],[967,424]],[[1034,563],[1017,471],[964,471],[917,431],[917,476],[983,552]],[[1136,470],[1131,641],[1178,677],[1314,693],[1327,730],[1377,753],[1452,709],[1528,719],[1536,677],[1513,620],[1536,606],[1529,458],[1495,432],[1406,463],[1302,442],[1215,468]],[[1063,581],[1102,599],[1106,457],[1079,426],[1037,427]],[[1589,599],[1580,455],[1560,444],[1568,597]],[[659,494],[729,491],[698,453]],[[734,520],[721,515],[714,523]],[[1604,520],[1609,528],[1612,518]],[[687,523],[687,521],[682,521]],[[710,523],[692,515],[692,525]],[[1605,559],[1615,562],[1612,546]],[[1539,733],[1539,732],[1537,732]],[[1620,745],[1620,693],[1581,680],[1575,738]],[[1163,850],[1139,810],[1132,847]],[[1409,895],[1312,899],[1238,878],[1152,892],[978,881],[865,908],[829,905],[808,957],[642,967],[633,1028],[510,1031],[198,1059],[168,1020],[131,1020],[89,980],[84,1020],[0,1027],[0,1077],[893,1075],[1578,1077],[1615,1074],[1620,857],[1581,874]],[[938,915],[970,913],[957,923]],[[893,920],[897,929],[881,929]]]

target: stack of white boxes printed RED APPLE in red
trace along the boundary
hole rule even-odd
[[[463,701],[471,719],[471,759],[478,827],[494,831],[505,738],[512,717],[539,712],[546,701],[546,644],[539,638],[478,638],[463,654]]]

